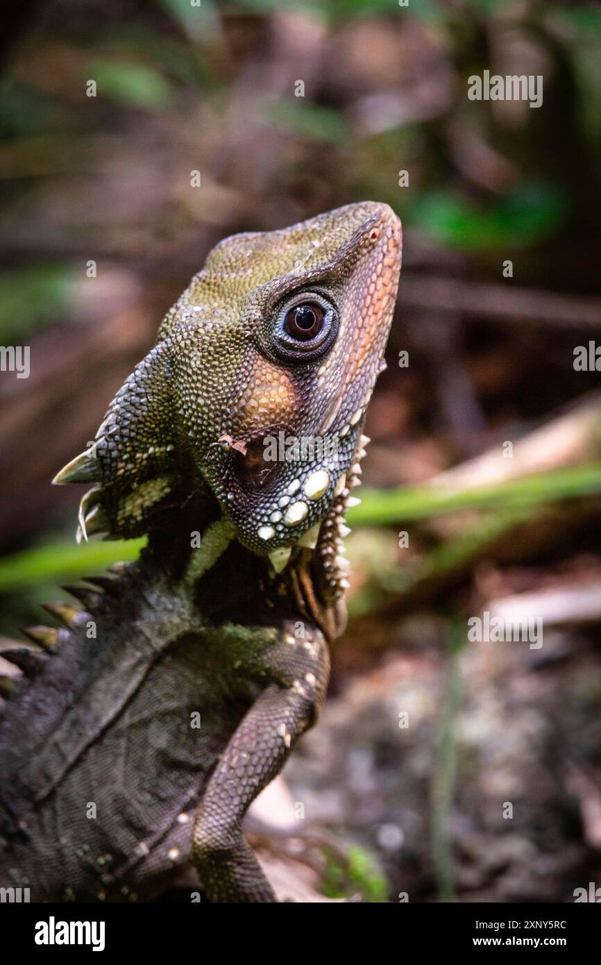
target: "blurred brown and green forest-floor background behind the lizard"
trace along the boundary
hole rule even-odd
[[[411,901],[601,885],[594,345],[574,367],[601,345],[601,8],[7,0],[1,15],[0,343],[30,346],[30,375],[0,372],[0,634],[139,551],[76,546],[80,487],[49,482],[213,244],[385,201],[404,264],[348,515],[350,620],[286,771],[330,841],[312,882]],[[542,106],[469,100],[485,69],[542,75]],[[483,611],[542,619],[543,646],[470,643]]]

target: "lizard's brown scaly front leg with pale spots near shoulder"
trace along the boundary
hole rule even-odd
[[[329,676],[327,644],[315,629],[303,640],[283,633],[248,669],[269,682],[233,733],[194,824],[194,862],[211,901],[277,900],[242,834],[242,818],[315,722]]]

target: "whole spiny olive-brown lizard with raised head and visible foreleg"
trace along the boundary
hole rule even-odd
[[[222,240],[55,478],[79,540],[148,541],[5,648],[0,885],[276,900],[242,819],[324,700],[400,251],[376,202]]]

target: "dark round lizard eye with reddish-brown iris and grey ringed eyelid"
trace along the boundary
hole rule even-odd
[[[299,291],[280,305],[272,331],[272,345],[280,356],[310,361],[336,339],[338,313],[320,291]]]

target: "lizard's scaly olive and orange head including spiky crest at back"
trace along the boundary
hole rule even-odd
[[[114,400],[94,462],[82,454],[56,479],[99,483],[84,533],[147,532],[182,483],[202,481],[276,570],[314,546],[352,500],[399,267],[399,221],[371,202],[219,243]]]

